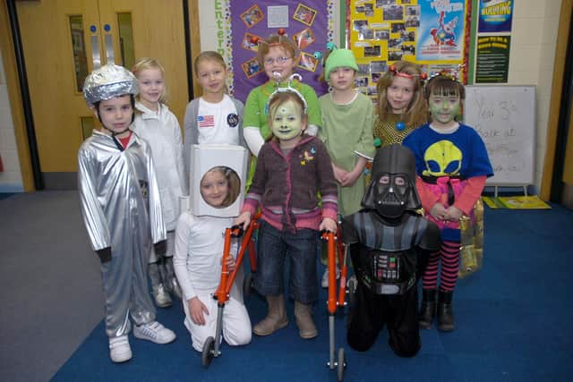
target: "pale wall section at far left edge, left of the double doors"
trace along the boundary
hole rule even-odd
[[[16,147],[14,124],[8,86],[4,73],[2,52],[0,51],[0,157],[4,172],[0,173],[0,192],[21,192],[24,190],[21,180],[20,159]]]

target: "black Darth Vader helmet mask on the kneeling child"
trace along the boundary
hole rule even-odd
[[[421,207],[415,191],[415,157],[410,149],[394,144],[378,150],[362,205],[388,218]]]

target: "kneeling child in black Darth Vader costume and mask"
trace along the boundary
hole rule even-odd
[[[379,149],[363,209],[342,221],[342,236],[358,279],[348,315],[347,340],[364,352],[384,324],[401,357],[420,349],[416,283],[428,255],[440,250],[440,229],[419,215],[415,157],[393,144]]]

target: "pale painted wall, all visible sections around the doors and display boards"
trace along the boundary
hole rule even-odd
[[[201,50],[218,49],[218,21],[215,7],[220,0],[200,0]],[[561,0],[520,0],[515,2],[509,84],[535,85],[536,154],[535,192],[539,191],[546,150],[547,121],[552,84],[552,64],[558,33]],[[337,18],[338,20],[339,18]],[[339,37],[336,37],[339,40]],[[0,192],[23,191],[21,166],[14,139],[13,118],[7,96],[2,52],[0,51],[0,156],[4,172],[0,173]]]

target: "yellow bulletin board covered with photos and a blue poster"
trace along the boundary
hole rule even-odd
[[[460,72],[459,80],[467,82],[471,0],[349,0],[346,5],[347,44],[359,67],[355,85],[372,100],[378,79],[399,60],[421,64],[429,75]]]

